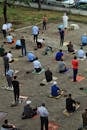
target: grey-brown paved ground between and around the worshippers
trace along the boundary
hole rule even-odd
[[[58,23],[60,24],[60,23]],[[72,41],[75,49],[80,48],[80,39],[81,35],[87,31],[86,24],[80,24],[79,30],[68,31],[65,35],[65,41]],[[41,26],[40,26],[41,28]],[[40,31],[39,37],[45,38],[46,45],[51,45],[54,52],[49,55],[43,56],[42,52],[45,47],[39,50],[34,50],[35,43],[33,43],[33,38],[31,35],[31,28],[25,28],[19,31],[15,31],[14,35],[16,38],[19,38],[21,35],[24,35],[26,38],[27,51],[34,51],[34,53],[39,57],[42,65],[50,66],[53,75],[56,76],[58,85],[60,88],[66,90],[65,94],[72,93],[73,97],[80,101],[81,106],[77,112],[72,116],[66,117],[63,115],[62,111],[65,108],[65,99],[66,97],[61,97],[60,99],[48,98],[50,93],[51,84],[40,86],[40,82],[44,79],[44,72],[40,75],[35,75],[32,73],[26,74],[26,71],[32,71],[32,63],[27,61],[26,57],[19,57],[21,55],[21,50],[12,49],[12,53],[16,58],[16,61],[10,66],[15,70],[19,70],[18,80],[21,83],[20,93],[21,95],[28,96],[32,101],[32,106],[40,105],[42,102],[46,103],[46,106],[49,110],[49,121],[54,121],[60,125],[59,130],[77,130],[77,128],[82,124],[81,113],[87,106],[87,94],[81,91],[79,88],[86,88],[87,84],[87,60],[80,61],[79,63],[79,74],[84,76],[85,79],[81,82],[73,83],[71,81],[72,71],[67,74],[59,74],[57,72],[57,62],[54,60],[54,55],[57,50],[59,50],[59,36],[57,33],[57,23],[49,23],[47,26],[47,31],[42,33]],[[2,44],[2,42],[0,43]],[[10,45],[5,45],[5,49],[10,50]],[[65,62],[68,66],[71,65],[71,59],[73,55],[67,54],[67,48],[64,46],[62,48],[65,52]],[[84,47],[84,50],[87,50],[87,47]],[[0,58],[0,111],[7,112],[8,115],[6,118],[10,122],[16,124],[18,127],[23,130],[40,130],[40,120],[39,118],[21,120],[21,113],[23,111],[24,104],[19,104],[17,107],[10,107],[13,101],[13,92],[1,89],[2,86],[7,85],[5,77],[3,75],[3,60]],[[2,124],[3,120],[0,122]]]

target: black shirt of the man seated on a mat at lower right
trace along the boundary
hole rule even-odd
[[[75,111],[75,107],[73,107],[73,104],[75,104],[75,100],[73,100],[72,98],[67,98],[66,99],[66,109],[68,112],[74,112]]]

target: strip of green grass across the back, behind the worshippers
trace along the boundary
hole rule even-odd
[[[8,22],[13,22],[15,28],[41,22],[44,14],[47,15],[48,22],[59,22],[62,21],[63,13],[64,12],[49,11],[49,10],[38,11],[38,9],[24,8],[24,7],[8,7],[7,10]],[[87,23],[86,16],[70,14],[69,18],[72,21]],[[0,26],[2,25],[3,22],[4,22],[3,6],[0,5]]]

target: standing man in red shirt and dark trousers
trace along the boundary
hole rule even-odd
[[[76,82],[76,77],[77,77],[77,73],[78,73],[78,65],[79,65],[77,57],[74,56],[74,59],[71,62],[72,62],[71,64],[72,64],[72,68],[73,68],[73,82]]]

